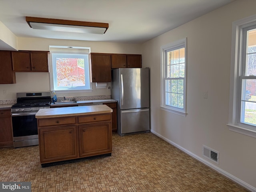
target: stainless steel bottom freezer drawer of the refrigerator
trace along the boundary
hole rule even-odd
[[[150,130],[149,108],[121,110],[121,126],[118,133],[124,134]]]

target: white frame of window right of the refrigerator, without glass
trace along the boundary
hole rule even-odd
[[[170,44],[166,44],[164,46],[161,46],[161,104],[160,104],[160,108],[162,110],[174,113],[174,114],[178,114],[181,116],[185,116],[187,115],[186,113],[186,76],[187,76],[187,38],[178,40],[176,42],[172,42]],[[184,80],[184,89],[183,89],[183,108],[178,108],[178,107],[174,107],[174,106],[169,106],[166,105],[166,67],[167,67],[167,61],[166,61],[166,50],[176,50],[179,49],[180,47],[184,47],[185,48],[185,74],[184,74],[184,78],[182,78]]]

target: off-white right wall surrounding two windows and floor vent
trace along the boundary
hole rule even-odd
[[[256,14],[255,0],[237,0],[143,44],[151,70],[152,132],[256,191],[256,138],[228,129],[232,22]],[[160,110],[160,47],[187,37],[186,117]],[[203,92],[208,91],[208,99]],[[220,152],[219,165],[202,145]]]

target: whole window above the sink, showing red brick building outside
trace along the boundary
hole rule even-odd
[[[90,90],[87,53],[51,52],[51,90]]]

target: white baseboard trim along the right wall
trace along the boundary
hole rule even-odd
[[[157,132],[155,132],[154,130],[150,130],[150,132],[152,132],[153,134],[155,134],[156,136],[162,138],[163,140],[165,140],[166,142],[168,142],[169,144],[175,146],[176,148],[182,150],[183,152],[185,152],[186,154],[188,154],[189,156],[192,156],[193,158],[195,158],[196,160],[202,162],[203,164],[205,164],[206,166],[212,168],[213,170],[215,170],[216,172],[222,174],[223,176],[226,176],[227,178],[231,179],[232,181],[236,182],[237,184],[239,184],[240,186],[243,186],[244,188],[250,190],[251,192],[256,192],[256,188],[249,185],[248,183],[240,180],[239,178],[236,178],[235,176],[233,176],[232,174],[229,174],[228,172],[218,168],[217,166],[211,164],[210,162],[204,160],[203,158],[197,156],[196,154],[186,150],[185,148],[183,148],[182,146],[172,142],[171,140],[165,138],[164,136],[158,134]]]

